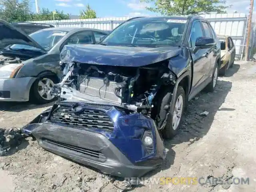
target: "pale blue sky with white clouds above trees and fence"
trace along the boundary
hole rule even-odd
[[[35,0],[31,0],[32,9],[36,11]],[[52,10],[63,10],[65,13],[79,15],[81,9],[89,4],[96,11],[97,17],[123,17],[123,16],[156,16],[158,14],[149,12],[144,8],[145,3],[140,0],[38,0],[39,8]],[[256,0],[254,0],[256,6]],[[248,15],[250,0],[226,0],[228,13],[238,11]]]

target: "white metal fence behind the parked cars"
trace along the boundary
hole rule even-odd
[[[242,58],[246,44],[246,14],[205,14],[201,15],[208,19],[218,35],[229,35],[233,38],[236,46],[236,56]],[[38,23],[52,24],[55,27],[83,27],[101,30],[113,30],[130,17],[96,18],[96,19],[72,19],[72,20],[49,20],[33,21]]]

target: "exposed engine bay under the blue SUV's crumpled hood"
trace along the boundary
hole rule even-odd
[[[74,99],[79,91],[80,96],[76,99],[100,98],[150,117],[158,90],[176,82],[176,76],[163,62],[143,67],[71,62],[62,64],[62,67],[64,77],[54,87],[54,95]],[[67,94],[68,90],[72,92],[72,98]]]

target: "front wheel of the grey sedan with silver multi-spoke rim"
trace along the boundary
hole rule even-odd
[[[30,100],[36,104],[45,104],[56,100],[57,98],[50,94],[50,90],[56,83],[56,79],[57,78],[55,76],[46,76],[38,78],[31,87]]]

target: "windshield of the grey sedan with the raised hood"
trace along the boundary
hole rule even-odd
[[[40,30],[30,34],[29,36],[35,40],[42,48],[45,50],[50,50],[64,35],[66,31],[56,31],[56,30]],[[26,50],[40,50],[33,46],[14,44],[9,48],[13,50],[26,49]]]

